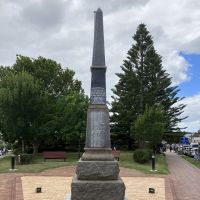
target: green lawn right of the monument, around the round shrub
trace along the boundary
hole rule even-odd
[[[130,168],[130,169],[136,169],[142,172],[145,172],[147,174],[153,173],[153,174],[168,174],[168,167],[165,159],[165,155],[156,155],[156,172],[150,171],[152,169],[151,162],[146,164],[139,164],[136,163],[133,160],[133,152],[122,152],[120,154],[120,166]]]

